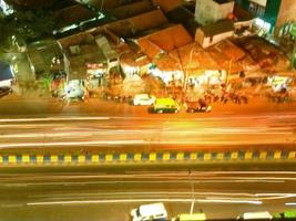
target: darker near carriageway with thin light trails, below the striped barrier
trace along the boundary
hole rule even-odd
[[[0,220],[127,221],[131,209],[151,202],[164,202],[170,218],[190,212],[193,201],[195,212],[217,220],[246,211],[283,212],[295,207],[295,182],[294,171],[1,170]]]

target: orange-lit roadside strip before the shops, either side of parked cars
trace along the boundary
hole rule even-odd
[[[28,96],[19,96],[12,93],[0,98],[0,116],[18,115],[63,115],[63,114],[90,114],[90,115],[134,115],[147,116],[147,107],[133,107],[126,103],[116,103],[100,97],[90,98],[86,102],[63,102],[51,97],[50,94],[41,95],[40,91],[28,90]],[[214,114],[256,114],[295,112],[296,102],[274,103],[264,96],[251,97],[248,104],[213,103]],[[204,114],[195,114],[204,116]],[[210,114],[211,116],[212,114]],[[171,115],[172,116],[172,115]],[[175,116],[180,116],[176,114]]]

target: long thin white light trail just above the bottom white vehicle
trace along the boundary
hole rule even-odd
[[[28,202],[27,206],[58,206],[58,204],[90,204],[90,203],[127,203],[127,202],[206,202],[206,203],[248,203],[262,204],[257,200],[207,200],[207,199],[120,199],[120,200],[74,200],[74,201],[48,201]]]

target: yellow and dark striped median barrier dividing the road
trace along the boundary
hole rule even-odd
[[[296,160],[296,150],[0,154],[0,166]]]

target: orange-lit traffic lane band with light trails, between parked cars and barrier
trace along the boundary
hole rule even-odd
[[[294,145],[295,131],[296,113],[2,118],[0,148]]]

